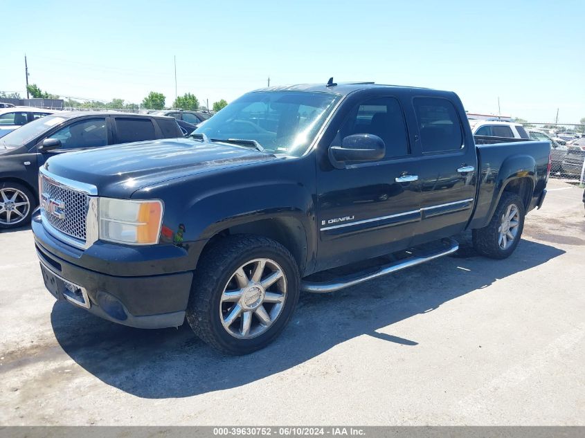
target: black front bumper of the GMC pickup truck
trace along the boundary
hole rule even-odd
[[[183,324],[187,307],[192,271],[160,273],[161,264],[169,262],[169,253],[181,259],[182,266],[188,251],[183,248],[130,248],[107,245],[98,248],[96,259],[89,250],[82,251],[64,244],[42,226],[42,218],[32,221],[37,255],[47,289],[57,300],[68,300],[87,311],[112,322],[145,329],[178,327]],[[117,247],[117,248],[116,248]],[[156,248],[154,248],[156,249]],[[101,262],[101,263],[99,263]],[[95,267],[100,266],[100,271]],[[124,270],[125,275],[112,275]],[[165,269],[166,270],[166,269]],[[154,275],[143,275],[145,272]]]

